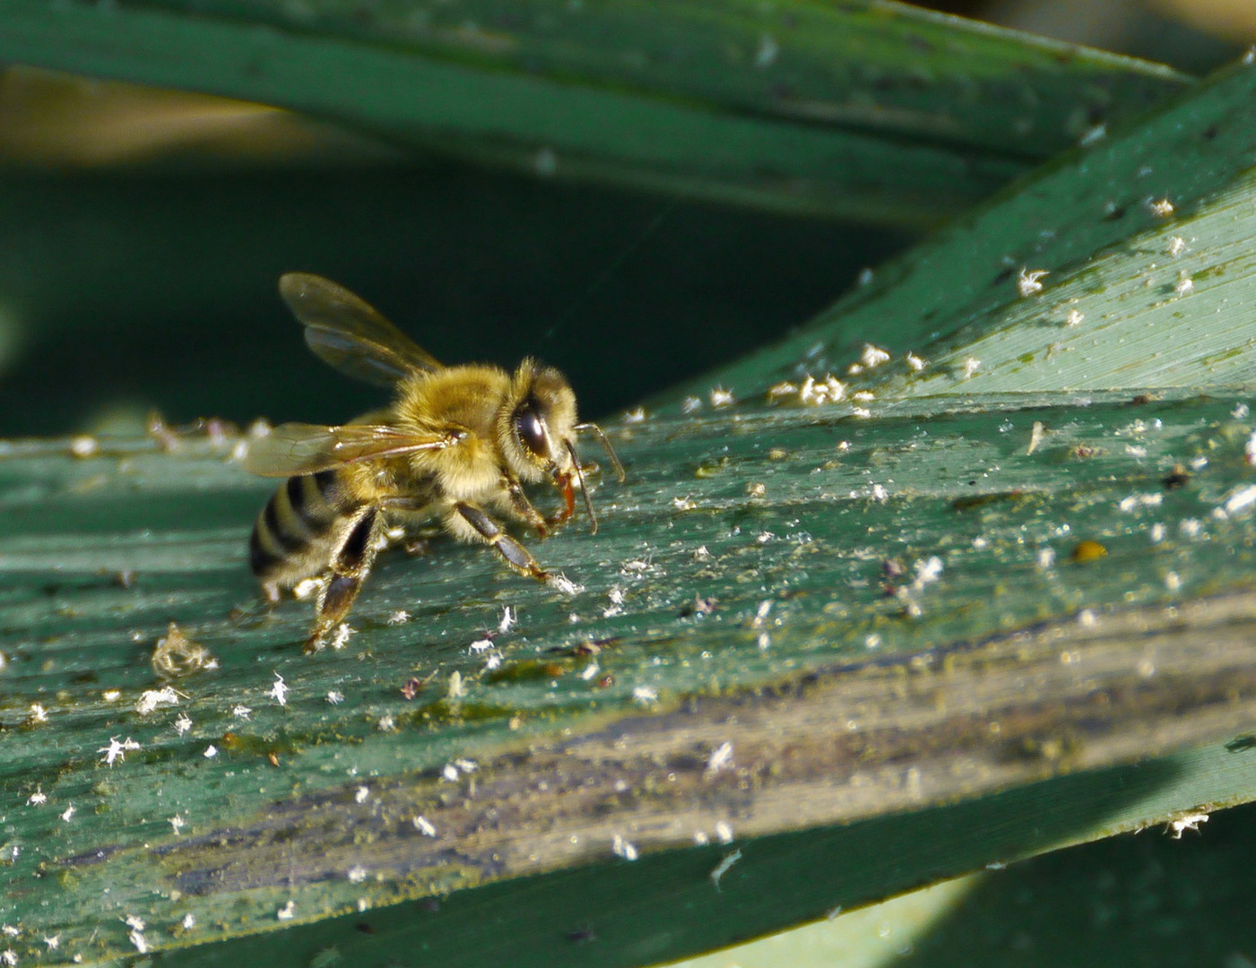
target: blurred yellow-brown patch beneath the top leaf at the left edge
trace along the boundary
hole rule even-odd
[[[0,72],[0,163],[222,168],[403,157],[364,136],[261,104],[35,68]]]

